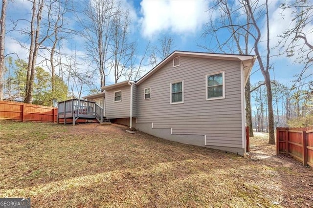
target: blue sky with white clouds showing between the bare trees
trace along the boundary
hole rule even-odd
[[[76,6],[82,7],[86,0],[74,1]],[[148,42],[151,45],[157,44],[157,40],[163,36],[170,36],[174,39],[174,50],[183,51],[202,51],[205,50],[198,45],[208,42],[201,37],[203,33],[203,26],[209,20],[210,14],[207,12],[209,4],[212,1],[205,0],[122,0],[122,5],[125,9],[131,11],[132,26],[130,29],[131,38],[138,45],[138,56],[147,46]],[[285,12],[284,18],[281,17],[282,12],[279,8],[280,1],[271,1],[269,6],[270,13],[270,45],[274,47],[279,38],[279,35],[288,26],[290,26],[292,14],[291,12]],[[12,27],[11,20],[16,19],[30,19],[31,5],[26,0],[15,0],[9,2],[7,7],[7,31]],[[214,16],[214,14],[213,14]],[[68,25],[71,24],[73,16],[68,17]],[[28,27],[27,22],[18,25],[23,29]],[[75,26],[73,26],[75,29]],[[312,25],[313,27],[313,25]],[[263,30],[265,28],[262,28]],[[6,36],[6,54],[16,52],[22,59],[27,59],[27,50],[20,47],[15,40],[22,40],[27,45],[27,39],[18,32],[8,33]],[[71,53],[76,49],[78,55],[84,55],[85,49],[83,40],[79,36],[71,37],[70,40],[63,42],[63,50]],[[216,44],[211,42],[212,47]],[[261,47],[261,50],[265,48]],[[213,49],[214,50],[214,49]],[[218,52],[218,51],[217,51]],[[271,55],[278,53],[278,49],[273,49]],[[253,54],[253,52],[252,52]],[[44,54],[43,54],[44,55]],[[41,61],[39,58],[38,63]],[[293,75],[299,73],[302,69],[302,65],[295,63],[295,58],[286,58],[285,56],[273,57],[271,62],[275,70],[275,79],[281,83],[288,83],[293,78]],[[88,67],[82,64],[82,67]],[[151,67],[147,66],[146,70],[150,70]],[[83,69],[82,69],[83,70]],[[311,69],[311,73],[312,73]],[[273,73],[271,72],[271,78]],[[96,78],[95,78],[96,79]],[[258,70],[258,64],[255,64],[251,73],[251,83],[257,83],[264,80],[261,72]],[[99,80],[95,80],[95,83],[99,83]],[[109,76],[107,84],[113,83],[113,77]],[[85,92],[88,93],[88,92]]]

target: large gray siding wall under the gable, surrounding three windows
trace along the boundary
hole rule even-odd
[[[181,56],[181,65],[173,68],[171,60],[138,85],[137,123],[172,128],[173,134],[207,135],[208,146],[242,148],[240,64]],[[205,75],[221,71],[225,72],[225,99],[206,101]],[[184,103],[170,104],[170,83],[181,80]],[[151,87],[148,100],[144,100],[146,87]]]

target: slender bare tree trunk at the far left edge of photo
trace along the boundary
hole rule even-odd
[[[0,18],[0,101],[3,100],[3,73],[4,73],[4,39],[5,39],[5,17],[7,1],[2,0]]]

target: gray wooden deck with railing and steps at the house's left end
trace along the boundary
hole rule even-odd
[[[70,99],[58,103],[58,118],[67,123],[67,119],[72,120],[73,125],[78,119],[96,119],[99,123],[103,122],[103,108],[92,101],[80,99]]]

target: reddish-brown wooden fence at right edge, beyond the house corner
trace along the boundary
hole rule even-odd
[[[276,155],[291,155],[313,167],[313,128],[276,128]]]

